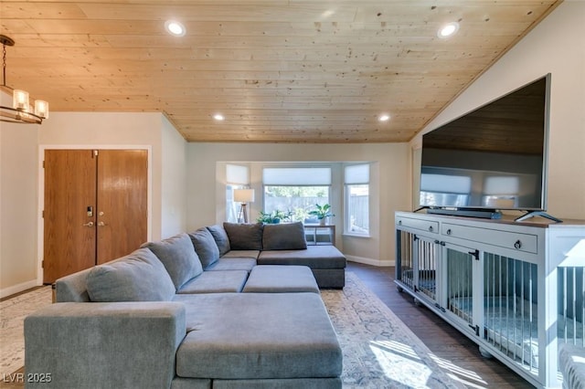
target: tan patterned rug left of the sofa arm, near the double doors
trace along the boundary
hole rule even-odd
[[[25,318],[51,300],[51,287],[43,287],[0,302],[0,377],[24,366]]]

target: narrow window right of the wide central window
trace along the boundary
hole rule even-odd
[[[369,163],[347,165],[346,234],[369,236]]]

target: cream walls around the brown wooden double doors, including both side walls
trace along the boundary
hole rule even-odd
[[[186,142],[161,113],[51,112],[37,125],[2,124],[0,135],[0,297],[41,282],[40,151],[146,148],[149,239],[186,227]],[[164,189],[163,189],[164,188]]]

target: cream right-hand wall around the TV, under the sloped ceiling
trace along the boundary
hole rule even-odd
[[[564,2],[421,133],[551,73],[548,214],[585,219],[584,37],[585,2]]]

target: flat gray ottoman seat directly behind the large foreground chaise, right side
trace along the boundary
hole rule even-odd
[[[242,292],[319,293],[311,268],[306,266],[259,265],[252,268]]]

